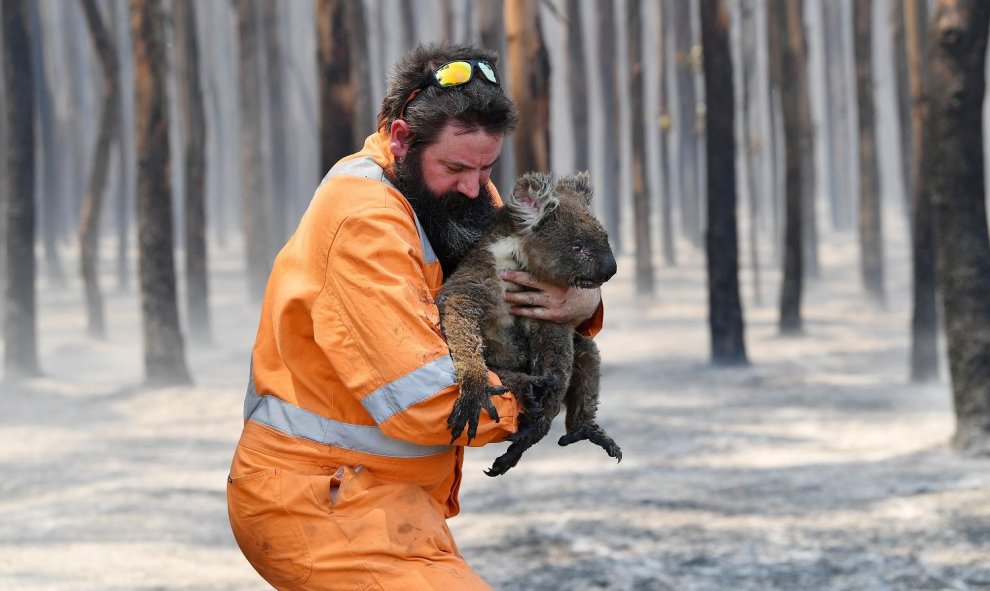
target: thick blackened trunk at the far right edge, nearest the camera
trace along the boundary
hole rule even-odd
[[[990,3],[939,0],[928,41],[925,150],[949,372],[953,445],[990,453],[990,239],[983,160]],[[937,149],[935,149],[937,147]]]

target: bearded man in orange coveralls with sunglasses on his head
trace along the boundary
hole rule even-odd
[[[419,47],[396,66],[378,133],[317,189],[275,260],[231,465],[231,527],[278,589],[488,589],[458,553],[462,435],[433,298],[501,204],[489,180],[516,125],[475,47]],[[507,276],[518,314],[601,325],[597,290]],[[498,378],[490,375],[491,383]],[[515,432],[493,396],[472,445]]]

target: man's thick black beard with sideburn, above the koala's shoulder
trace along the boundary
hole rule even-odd
[[[396,187],[416,212],[446,278],[491,223],[495,204],[484,185],[474,199],[458,192],[438,195],[430,191],[423,179],[421,158],[422,149],[414,148],[404,162],[395,163],[392,172]]]

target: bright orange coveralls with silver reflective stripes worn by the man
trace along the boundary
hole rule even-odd
[[[391,162],[374,134],[327,173],[265,292],[227,504],[241,551],[277,589],[490,588],[446,525],[466,435],[450,445],[442,275],[383,173]],[[472,445],[517,428],[515,397],[493,401],[501,422],[481,413]]]

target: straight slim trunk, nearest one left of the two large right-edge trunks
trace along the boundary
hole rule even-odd
[[[853,15],[859,115],[859,249],[863,287],[875,303],[883,305],[883,228],[873,103],[872,6],[872,2],[856,2]]]

